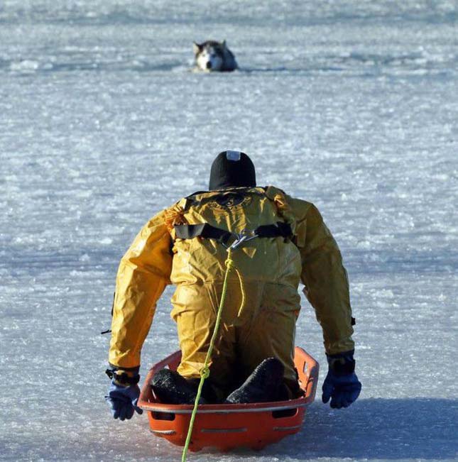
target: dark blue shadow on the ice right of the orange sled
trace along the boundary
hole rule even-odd
[[[359,400],[332,410],[315,402],[300,433],[265,451],[300,460],[455,458],[458,401],[427,398]]]

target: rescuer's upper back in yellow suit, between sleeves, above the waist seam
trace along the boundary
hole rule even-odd
[[[245,234],[246,241],[233,253],[243,279],[297,288],[302,265],[293,243],[296,221],[292,214],[284,216],[282,199],[285,202],[280,189],[253,187],[192,194],[175,204],[178,220],[170,226],[174,241],[170,280],[176,285],[222,281],[227,248]],[[176,223],[180,225],[173,226]]]

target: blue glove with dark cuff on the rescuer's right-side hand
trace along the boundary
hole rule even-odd
[[[361,382],[354,373],[353,351],[327,356],[329,370],[323,383],[323,402],[331,399],[331,407],[340,409],[349,407],[361,392]]]

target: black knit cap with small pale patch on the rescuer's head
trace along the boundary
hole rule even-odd
[[[256,186],[256,172],[251,159],[238,150],[219,153],[210,170],[210,191],[242,186]]]

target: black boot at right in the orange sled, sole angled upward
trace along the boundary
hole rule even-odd
[[[229,404],[269,402],[282,399],[285,368],[277,358],[267,358],[259,364],[241,387],[226,398]]]

